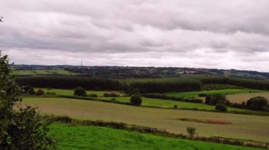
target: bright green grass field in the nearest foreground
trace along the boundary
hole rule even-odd
[[[250,150],[244,146],[231,146],[186,139],[173,139],[146,135],[107,127],[86,127],[55,123],[49,135],[57,140],[57,149],[229,149]]]

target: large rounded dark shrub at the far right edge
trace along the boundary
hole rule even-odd
[[[256,96],[246,102],[246,106],[253,111],[261,111],[263,106],[268,106],[268,100],[263,96]]]

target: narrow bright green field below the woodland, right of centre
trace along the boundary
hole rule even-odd
[[[198,92],[167,92],[166,96],[175,97],[198,97],[198,94],[245,94],[249,92],[264,92],[258,89],[221,89],[212,91],[198,91]]]

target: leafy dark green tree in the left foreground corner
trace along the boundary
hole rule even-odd
[[[0,149],[55,149],[55,142],[47,137],[48,118],[36,108],[21,106],[22,89],[8,65],[8,56],[0,51]]]

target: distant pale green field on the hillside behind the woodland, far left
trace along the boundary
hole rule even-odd
[[[12,70],[13,75],[76,75],[67,70]]]

